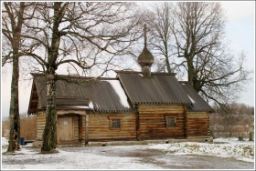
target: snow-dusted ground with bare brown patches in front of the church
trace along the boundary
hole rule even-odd
[[[7,143],[2,138],[2,150]],[[254,142],[215,139],[214,143],[174,143],[145,146],[61,147],[42,155],[22,146],[2,155],[2,169],[253,169]]]

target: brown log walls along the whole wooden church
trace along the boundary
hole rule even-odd
[[[135,140],[137,136],[138,139],[209,136],[209,114],[187,112],[185,115],[186,112],[185,106],[178,105],[139,105],[138,114],[95,114],[91,112],[87,114],[88,140]],[[84,111],[58,111],[58,116],[62,115],[73,117],[74,140],[84,141],[86,113]],[[166,126],[166,116],[175,117],[176,126]],[[121,119],[121,129],[111,128],[111,118]],[[136,119],[138,125],[136,125]],[[42,140],[45,123],[45,113],[38,112],[37,140]]]

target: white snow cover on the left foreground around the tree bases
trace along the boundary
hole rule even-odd
[[[2,137],[5,141],[5,138]],[[2,152],[7,146],[2,146]],[[160,169],[155,165],[145,165],[134,157],[103,156],[84,150],[67,152],[59,149],[57,154],[39,154],[36,148],[21,146],[15,155],[2,156],[2,169]]]

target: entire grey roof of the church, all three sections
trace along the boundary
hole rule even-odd
[[[136,104],[187,104],[189,111],[213,111],[191,85],[178,82],[176,74],[152,73],[145,77],[141,72],[116,72],[117,78],[65,75],[56,82],[57,108],[131,112]],[[37,99],[46,108],[46,95],[45,75],[34,75],[28,113],[36,113]]]

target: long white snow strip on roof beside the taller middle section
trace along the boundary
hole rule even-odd
[[[124,93],[123,87],[118,80],[106,80],[112,85],[115,93],[119,96],[121,103],[124,107],[129,108],[128,98]]]

